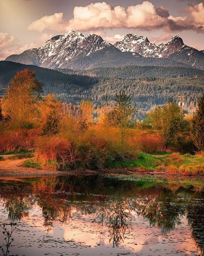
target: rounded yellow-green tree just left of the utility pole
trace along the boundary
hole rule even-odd
[[[175,102],[157,106],[148,114],[147,123],[152,131],[161,138],[163,150],[176,144],[181,131],[185,128],[185,120]]]

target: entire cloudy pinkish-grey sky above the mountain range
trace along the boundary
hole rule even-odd
[[[204,0],[0,0],[0,60],[74,29],[112,44],[128,33],[150,42],[179,35],[204,49]]]

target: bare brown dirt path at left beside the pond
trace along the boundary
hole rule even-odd
[[[45,176],[45,175],[63,175],[62,172],[52,170],[37,170],[35,168],[22,167],[21,164],[26,160],[12,160],[7,157],[0,161],[0,176]]]

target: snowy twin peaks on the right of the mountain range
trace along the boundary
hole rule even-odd
[[[114,44],[121,51],[137,52],[144,57],[168,57],[184,45],[182,38],[173,36],[166,44],[155,45],[142,35],[127,34]]]

